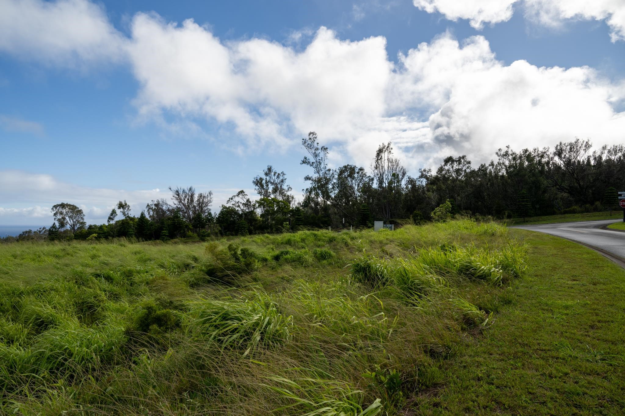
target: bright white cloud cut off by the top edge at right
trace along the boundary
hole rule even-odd
[[[606,21],[612,42],[625,40],[625,2],[622,0],[413,0],[428,13],[439,12],[447,19],[467,19],[475,29],[484,23],[506,22],[513,6],[539,24],[559,27],[571,19]]]

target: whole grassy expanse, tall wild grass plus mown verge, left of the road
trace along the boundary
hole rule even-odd
[[[469,220],[3,244],[0,414],[618,414],[624,282]]]

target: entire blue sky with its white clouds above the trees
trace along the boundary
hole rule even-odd
[[[0,0],[0,225],[104,223],[169,186],[213,211],[301,138],[409,174],[497,148],[625,138],[625,1]]]

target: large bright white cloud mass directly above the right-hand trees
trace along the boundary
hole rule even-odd
[[[439,107],[429,117],[435,143],[484,160],[498,147],[544,147],[591,137],[596,145],[622,142],[625,113],[612,103],[622,87],[590,67],[504,65],[482,36],[461,46],[439,37],[401,57],[398,88],[404,102],[425,98]],[[406,105],[406,104],[404,104]]]

